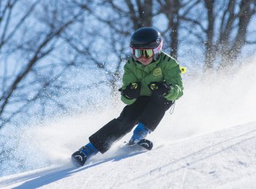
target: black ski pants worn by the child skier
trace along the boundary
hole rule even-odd
[[[89,141],[103,154],[112,143],[129,133],[138,122],[143,123],[151,131],[155,130],[172,104],[172,101],[167,101],[164,97],[140,96],[134,104],[125,106],[118,118],[111,120],[91,135]]]

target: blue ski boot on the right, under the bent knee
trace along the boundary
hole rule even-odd
[[[151,130],[140,122],[133,131],[132,138],[129,140],[128,145],[131,146],[140,142],[140,140],[144,139],[149,133],[151,133]]]

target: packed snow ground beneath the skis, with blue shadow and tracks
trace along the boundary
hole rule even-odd
[[[1,188],[255,188],[256,123],[116,156],[10,175]]]

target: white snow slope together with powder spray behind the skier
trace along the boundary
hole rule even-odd
[[[130,133],[85,167],[72,167],[71,154],[119,116],[121,102],[42,125],[4,127],[0,188],[255,188],[255,63],[203,80],[188,70],[174,113],[148,137],[152,151],[124,148]]]

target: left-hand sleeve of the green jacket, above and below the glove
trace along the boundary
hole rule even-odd
[[[135,76],[134,72],[132,71],[132,65],[133,64],[132,62],[127,62],[125,65],[124,65],[124,75],[123,75],[123,85],[121,87],[122,90],[124,90],[125,88],[127,88],[127,85],[129,85],[129,83],[136,83],[138,80],[137,80],[137,77]],[[136,101],[136,98],[135,99],[128,99],[128,98],[125,98],[124,96],[121,96],[121,101],[124,102],[124,104],[133,104],[135,101]]]

